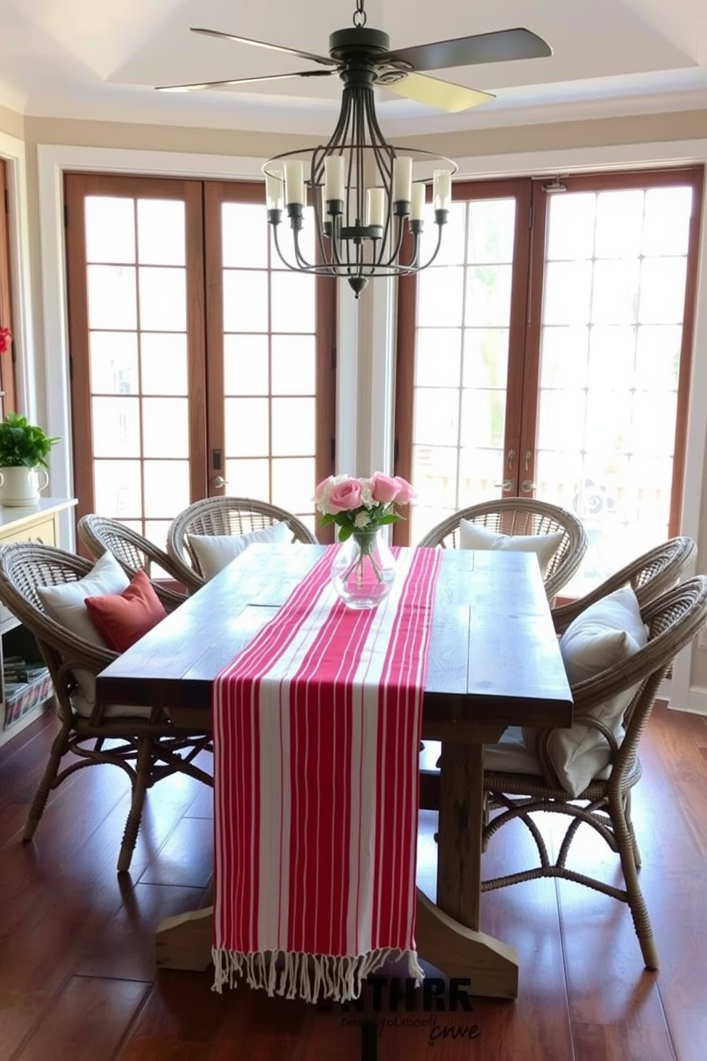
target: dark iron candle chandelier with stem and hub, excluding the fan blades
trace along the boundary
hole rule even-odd
[[[330,36],[330,54],[339,65],[343,92],[329,141],[276,155],[263,172],[267,216],[282,262],[304,273],[344,277],[358,298],[371,278],[417,273],[435,261],[457,166],[432,152],[395,147],[386,141],[375,114],[373,86],[394,85],[406,74],[392,62],[378,65],[379,56],[389,52],[390,38],[381,30],[366,29],[364,0],[356,0],[353,23],[354,29]],[[438,234],[431,254],[421,261],[430,178]],[[307,204],[313,209],[314,261],[304,257],[300,241]],[[283,207],[293,233],[289,251],[280,239]],[[410,239],[404,241],[406,228]]]

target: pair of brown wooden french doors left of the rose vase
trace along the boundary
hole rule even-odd
[[[163,544],[227,492],[314,527],[334,285],[278,268],[262,186],[67,174],[65,194],[77,516]]]

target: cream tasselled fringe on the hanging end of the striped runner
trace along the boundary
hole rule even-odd
[[[213,991],[220,994],[226,985],[237,987],[245,977],[251,988],[260,988],[270,997],[303,998],[315,1003],[320,998],[353,1002],[358,998],[364,981],[386,961],[407,959],[407,975],[420,987],[425,974],[417,951],[383,947],[354,957],[329,954],[305,954],[302,951],[264,951],[242,954],[224,947],[212,949],[215,976]],[[281,968],[278,963],[281,962]]]

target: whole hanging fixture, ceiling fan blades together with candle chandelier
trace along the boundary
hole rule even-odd
[[[355,3],[353,28],[331,34],[329,57],[191,27],[193,33],[295,55],[317,64],[318,69],[158,87],[160,91],[191,92],[288,77],[340,76],[341,110],[329,142],[276,155],[263,171],[268,221],[282,262],[304,273],[343,277],[358,298],[372,277],[418,273],[435,261],[449,213],[452,177],[457,172],[456,163],[448,158],[412,147],[394,147],[386,141],[375,114],[373,87],[382,85],[442,110],[465,110],[494,97],[430,77],[426,71],[543,58],[551,55],[552,49],[530,30],[516,28],[390,51],[388,34],[366,27],[364,0]],[[427,259],[421,261],[423,214],[430,184],[437,240],[431,241],[435,245]],[[300,237],[307,205],[315,227],[312,261],[304,256]],[[293,232],[288,254],[283,251],[279,236],[283,209]]]

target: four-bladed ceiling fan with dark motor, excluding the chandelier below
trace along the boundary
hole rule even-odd
[[[234,40],[241,45],[251,45],[254,48],[265,48],[284,55],[294,55],[326,69],[267,74],[262,77],[233,77],[228,81],[211,81],[194,85],[159,85],[160,91],[191,92],[209,88],[227,88],[231,85],[284,81],[288,77],[331,77],[338,74],[344,85],[352,80],[359,82],[365,77],[369,84],[384,86],[397,95],[454,112],[484,103],[494,97],[491,92],[455,85],[438,77],[430,77],[421,71],[542,58],[552,54],[547,41],[530,30],[522,28],[478,33],[471,37],[438,40],[434,44],[391,51],[390,37],[387,33],[366,28],[364,0],[356,0],[353,29],[336,30],[331,34],[329,57],[304,52],[298,48],[284,48],[264,40],[240,37],[220,30],[191,27],[191,31],[224,40]]]

